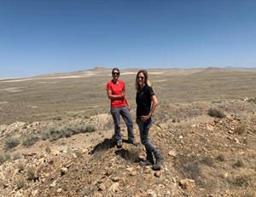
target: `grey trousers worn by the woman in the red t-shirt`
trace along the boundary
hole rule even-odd
[[[128,131],[128,139],[134,141],[134,132],[133,132],[133,122],[131,119],[131,113],[129,112],[128,108],[125,107],[111,107],[110,112],[113,117],[113,124],[114,124],[114,135],[117,142],[122,142],[123,137],[120,130],[120,114],[122,118],[125,120],[125,124],[127,126]]]

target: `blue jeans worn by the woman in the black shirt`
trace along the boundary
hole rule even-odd
[[[152,119],[148,119],[145,123],[143,120],[137,119],[137,125],[140,130],[141,142],[146,148],[147,159],[151,160],[153,159],[152,154],[154,154],[154,157],[160,154],[148,138],[148,132],[150,126],[152,125]]]

